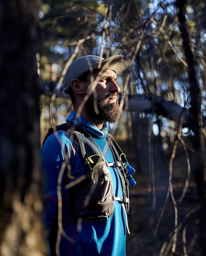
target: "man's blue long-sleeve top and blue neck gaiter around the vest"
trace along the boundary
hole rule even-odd
[[[75,113],[72,112],[67,121],[73,123],[74,120]],[[81,126],[92,135],[106,162],[114,162],[106,139],[107,123],[99,130],[79,117],[76,126]],[[70,190],[65,189],[65,186],[69,187],[71,178],[78,179],[84,174],[85,164],[82,155],[78,153],[81,152],[77,150],[78,143],[74,143],[72,139],[70,141],[70,136],[63,130],[54,132],[41,149],[45,178],[45,227],[48,234],[52,232],[58,214],[61,234],[58,234],[56,249],[61,256],[125,256],[126,216],[118,201],[114,202],[114,214],[106,220],[77,223],[71,221]],[[110,167],[110,175],[114,195],[121,197],[123,191],[116,168]]]

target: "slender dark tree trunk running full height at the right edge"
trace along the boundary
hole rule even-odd
[[[185,57],[188,63],[188,74],[190,82],[190,97],[191,97],[191,109],[190,113],[193,120],[193,132],[195,133],[193,139],[193,148],[200,149],[200,154],[197,155],[200,163],[195,169],[195,178],[197,183],[198,195],[199,195],[199,219],[203,255],[206,255],[206,156],[205,156],[205,137],[203,131],[203,121],[201,113],[201,92],[199,83],[196,79],[195,73],[195,59],[190,49],[189,34],[186,26],[185,18],[185,4],[186,1],[177,0],[177,7],[179,9],[178,18],[181,29],[181,38],[183,40],[183,47],[185,51]]]

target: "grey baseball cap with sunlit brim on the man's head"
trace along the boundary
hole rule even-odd
[[[109,69],[119,74],[127,69],[131,61],[123,55],[114,55],[109,58],[102,58],[96,55],[86,55],[72,61],[65,74],[64,87],[65,92],[71,87],[71,82],[75,78],[79,78],[89,70]]]

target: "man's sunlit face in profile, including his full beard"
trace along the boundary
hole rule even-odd
[[[98,70],[88,75],[88,86],[90,83],[94,84],[94,81],[97,81],[94,93],[92,93],[85,103],[87,113],[92,118],[110,123],[116,121],[119,114],[118,92],[120,91],[116,80],[116,74],[112,70],[105,70],[101,76],[99,76]]]

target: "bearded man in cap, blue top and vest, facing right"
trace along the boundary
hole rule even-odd
[[[129,65],[121,55],[87,55],[65,74],[74,110],[66,129],[54,128],[41,149],[50,255],[125,256],[130,214],[125,188],[131,176],[120,156],[125,154],[108,135],[108,123],[120,116],[116,75]]]

